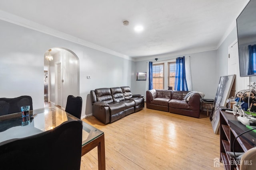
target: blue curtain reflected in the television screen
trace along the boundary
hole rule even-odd
[[[248,45],[249,50],[249,63],[248,63],[248,75],[253,75],[256,73],[256,45]]]

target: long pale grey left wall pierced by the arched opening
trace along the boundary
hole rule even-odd
[[[79,58],[82,117],[92,113],[90,90],[131,86],[130,60],[2,20],[0,37],[0,97],[28,95],[34,109],[44,107],[44,53],[53,47],[70,49]]]

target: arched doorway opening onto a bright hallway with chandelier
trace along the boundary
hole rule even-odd
[[[44,96],[48,96],[47,102],[64,109],[68,95],[80,94],[79,59],[71,50],[60,47],[51,48],[52,61],[46,60],[46,54],[48,51],[44,54],[44,72],[48,71],[48,88]]]

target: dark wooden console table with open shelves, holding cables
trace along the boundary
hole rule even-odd
[[[233,152],[234,139],[242,132],[249,130],[245,125],[237,121],[238,115],[220,110],[220,162],[225,170],[239,170],[236,160],[231,158],[227,152]],[[246,152],[255,145],[256,133],[248,132],[237,138],[235,142],[235,152]]]

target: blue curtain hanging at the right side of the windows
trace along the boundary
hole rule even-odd
[[[176,58],[176,72],[174,90],[188,91],[185,72],[185,57]]]

